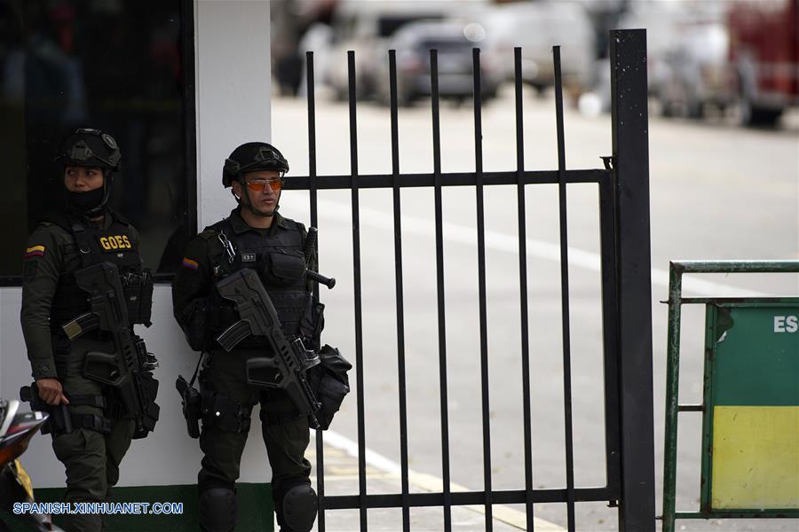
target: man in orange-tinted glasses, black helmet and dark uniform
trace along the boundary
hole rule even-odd
[[[288,161],[272,145],[250,142],[233,150],[225,160],[222,184],[233,187],[239,206],[189,242],[172,286],[175,317],[189,344],[210,352],[200,376],[204,458],[198,483],[203,530],[235,527],[235,481],[250,414],[259,402],[281,531],[307,532],[316,518],[311,464],[304,457],[310,440],[307,417],[300,415],[283,391],[259,392],[247,383],[245,364],[249,358],[264,356],[265,339],[250,337],[229,353],[213,340],[237,319],[235,309],[219,296],[215,285],[244,268],[257,270],[284,334],[302,334],[312,303],[305,263],[313,268],[315,259],[305,257],[303,224],[277,212],[288,171]]]

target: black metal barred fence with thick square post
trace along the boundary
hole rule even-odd
[[[394,52],[389,52],[392,128],[392,174],[360,175],[358,171],[357,113],[355,98],[354,52],[349,59],[349,176],[319,176],[316,168],[315,102],[313,58],[307,55],[309,176],[294,177],[286,188],[310,191],[311,224],[317,226],[317,192],[327,189],[352,191],[352,249],[355,296],[355,364],[358,409],[359,492],[347,496],[325,496],[323,433],[317,434],[318,490],[320,514],[318,528],[325,530],[325,512],[340,509],[360,511],[360,530],[368,530],[369,508],[401,508],[402,529],[410,530],[410,508],[440,506],[444,529],[452,527],[453,505],[484,505],[486,530],[492,530],[492,505],[526,505],[527,529],[533,530],[534,505],[566,503],[568,529],[574,530],[574,506],[586,501],[606,501],[619,507],[619,529],[628,532],[654,530],[654,444],[652,310],[650,284],[649,162],[647,130],[646,34],[645,30],[611,32],[613,156],[605,158],[605,168],[566,169],[564,143],[563,90],[560,51],[553,49],[556,69],[556,113],[558,169],[526,171],[523,150],[522,80],[520,49],[515,51],[516,66],[516,170],[484,172],[481,132],[480,55],[473,51],[474,154],[475,170],[442,173],[439,129],[438,56],[430,54],[431,119],[433,172],[399,172],[397,69]],[[599,190],[602,261],[602,312],[605,384],[605,464],[606,485],[581,488],[574,485],[574,444],[572,437],[572,386],[569,330],[568,231],[566,226],[567,184],[596,183]],[[497,490],[491,484],[491,438],[489,419],[486,249],[483,205],[484,187],[516,184],[518,187],[518,268],[521,294],[521,338],[519,356],[523,390],[525,430],[525,486]],[[530,184],[558,184],[561,253],[561,314],[563,322],[563,411],[566,426],[566,486],[561,489],[534,489],[531,436],[530,359],[527,333],[527,264],[525,187]],[[450,489],[449,420],[447,416],[447,343],[444,297],[444,263],[441,191],[445,186],[473,186],[477,199],[477,241],[479,263],[479,321],[482,395],[482,442],[484,489],[452,492]],[[407,458],[406,364],[403,308],[402,227],[400,223],[402,187],[433,187],[435,192],[436,272],[438,283],[439,383],[441,419],[441,457],[443,490],[440,493],[409,493]],[[393,191],[394,253],[397,301],[397,348],[399,366],[399,444],[401,493],[367,493],[364,423],[363,332],[360,282],[359,191],[364,188],[391,188]]]

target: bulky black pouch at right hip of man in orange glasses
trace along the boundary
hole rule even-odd
[[[350,393],[347,372],[352,369],[352,364],[341,356],[337,348],[327,344],[320,349],[319,358],[320,364],[308,370],[308,379],[316,400],[321,403],[316,418],[320,429],[326,430],[341,408],[341,403],[344,403],[344,397]]]

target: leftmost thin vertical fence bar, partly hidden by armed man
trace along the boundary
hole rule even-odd
[[[318,227],[316,206],[316,105],[313,87],[313,52],[305,52],[305,76],[308,102],[308,179],[311,200],[311,227]],[[317,269],[319,258],[317,257]],[[319,283],[313,284],[313,299],[319,301]],[[316,527],[325,532],[325,445],[324,431],[316,431],[316,491],[319,496],[319,514]]]

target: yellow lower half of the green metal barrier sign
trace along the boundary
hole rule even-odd
[[[799,509],[799,406],[713,408],[714,510]]]

